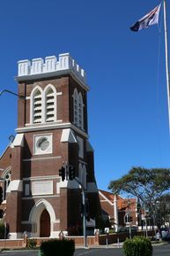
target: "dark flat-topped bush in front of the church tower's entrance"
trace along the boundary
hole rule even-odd
[[[43,256],[73,256],[75,251],[74,240],[49,240],[41,243]]]

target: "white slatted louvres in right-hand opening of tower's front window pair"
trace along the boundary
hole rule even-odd
[[[48,89],[46,93],[46,121],[55,121],[55,93]]]

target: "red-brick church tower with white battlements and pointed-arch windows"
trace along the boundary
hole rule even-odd
[[[0,158],[1,209],[11,238],[58,237],[81,225],[81,189],[62,181],[63,162],[87,190],[89,226],[100,215],[93,150],[88,141],[85,71],[69,53],[18,61],[18,128]]]

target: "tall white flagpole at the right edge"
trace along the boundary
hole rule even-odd
[[[164,0],[164,29],[165,29],[165,48],[166,48],[166,87],[167,87],[167,105],[168,105],[169,134],[170,134],[170,82],[169,82],[168,44],[167,44],[167,25],[166,25],[166,0]]]

